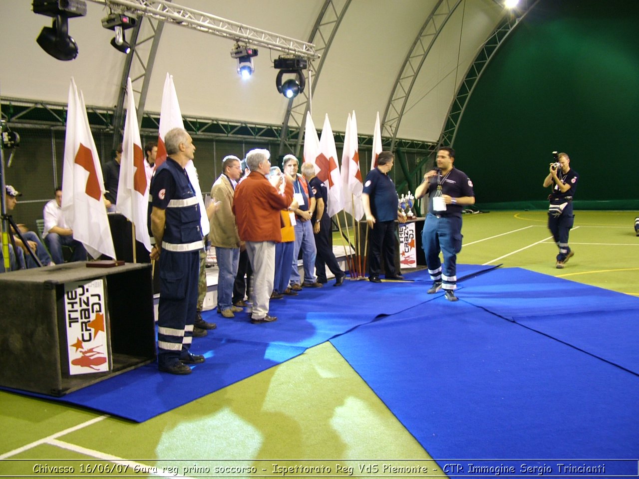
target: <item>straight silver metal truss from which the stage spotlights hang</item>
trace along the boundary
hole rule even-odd
[[[285,54],[301,56],[309,60],[319,57],[312,43],[295,40],[266,30],[250,27],[233,20],[222,19],[185,6],[171,3],[167,0],[89,0],[109,8],[125,8],[132,13],[139,13],[144,17],[151,17],[162,22],[187,27],[203,33],[222,36],[271,50],[278,50]]]

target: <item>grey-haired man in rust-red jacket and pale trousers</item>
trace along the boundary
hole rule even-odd
[[[293,202],[293,184],[286,181],[284,194],[273,186],[266,174],[270,171],[270,153],[253,149],[246,156],[250,174],[235,189],[233,213],[240,239],[245,241],[253,269],[253,308],[250,322],[270,323],[277,317],[268,316],[268,303],[273,292],[275,275],[275,243],[282,241],[280,211]]]

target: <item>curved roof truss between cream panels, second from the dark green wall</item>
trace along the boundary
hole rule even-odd
[[[424,60],[426,60],[426,56],[431,51],[435,40],[437,40],[459,3],[461,3],[461,0],[439,0],[437,2],[415,40],[413,40],[413,45],[404,59],[403,66],[399,70],[389,102],[381,119],[382,133],[386,133],[392,139],[390,151],[394,151],[399,123],[401,123],[401,118],[417,75],[419,75],[419,71],[424,65]]]

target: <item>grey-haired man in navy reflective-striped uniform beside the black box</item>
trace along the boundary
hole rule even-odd
[[[190,374],[190,364],[204,356],[191,354],[196,317],[199,252],[204,247],[199,202],[185,167],[196,147],[183,128],[164,137],[167,158],[151,179],[150,228],[155,238],[151,259],[159,259],[158,369]]]

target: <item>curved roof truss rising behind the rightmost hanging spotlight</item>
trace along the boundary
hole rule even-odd
[[[311,70],[309,64],[309,82],[307,88],[300,95],[291,98],[286,107],[284,121],[282,121],[282,136],[280,141],[279,154],[284,151],[293,151],[295,156],[300,155],[302,142],[304,139],[304,127],[306,125],[306,114],[311,110],[312,94],[315,91],[315,85],[321,73],[322,66],[326,59],[330,45],[335,38],[335,33],[341,24],[342,19],[351,0],[326,0],[319,11],[318,18],[313,26],[309,42],[313,43],[316,52],[319,54],[319,63]],[[313,72],[311,77],[311,72]],[[289,123],[293,122],[294,130],[289,131]],[[295,133],[295,134],[293,134]]]

